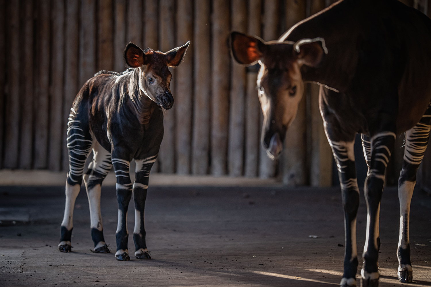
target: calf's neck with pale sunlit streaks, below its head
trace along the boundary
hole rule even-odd
[[[149,122],[153,112],[161,108],[139,87],[140,75],[140,68],[135,68],[131,71],[127,83],[127,93],[125,94],[128,99],[124,99],[124,104],[133,111],[139,123],[146,124]]]

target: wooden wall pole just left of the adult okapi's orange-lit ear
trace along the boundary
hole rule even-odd
[[[228,148],[229,78],[231,57],[228,49],[229,3],[212,2],[212,123],[211,171],[214,176],[226,174]]]

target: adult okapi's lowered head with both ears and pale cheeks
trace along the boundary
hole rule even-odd
[[[304,91],[303,65],[316,67],[327,53],[322,38],[295,42],[265,42],[259,37],[231,33],[234,59],[243,65],[259,62],[257,89],[263,112],[261,142],[268,156],[283,149],[287,128],[295,119]]]

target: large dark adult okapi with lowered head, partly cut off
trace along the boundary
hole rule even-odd
[[[400,281],[412,282],[409,206],[431,129],[431,20],[396,0],[340,0],[297,23],[276,41],[232,32],[231,50],[240,64],[260,64],[261,140],[272,157],[281,152],[303,94],[303,82],[320,84],[319,106],[337,163],[344,206],[342,286],[356,286],[358,265],[355,135],[362,135],[369,168],[364,186],[368,216],[361,284],[378,286],[384,175],[396,136],[406,133],[398,184],[397,254]]]

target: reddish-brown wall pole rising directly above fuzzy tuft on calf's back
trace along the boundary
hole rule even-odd
[[[113,70],[112,0],[99,0],[99,44],[97,70]],[[123,48],[124,49],[124,48]]]

